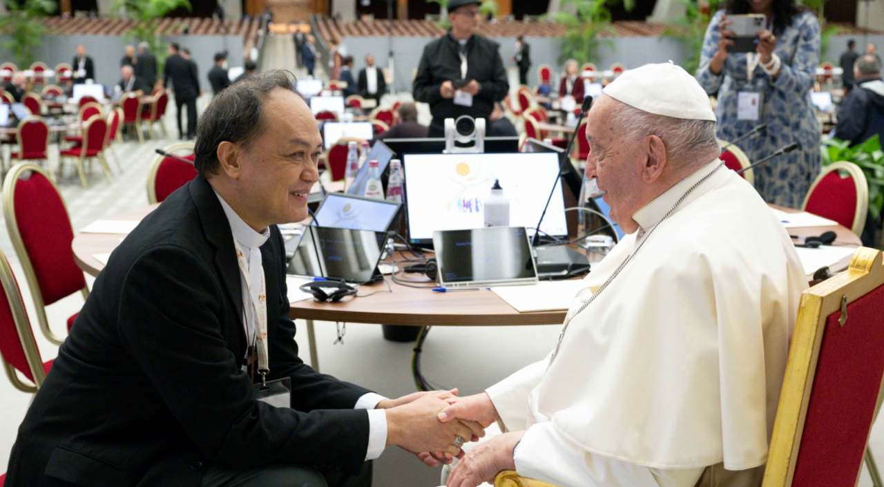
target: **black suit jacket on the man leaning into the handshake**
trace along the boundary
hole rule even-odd
[[[270,375],[292,408],[255,399],[240,270],[215,193],[197,176],[146,217],[95,279],[19,428],[6,487],[197,487],[211,462],[357,472],[366,392],[298,358],[283,239],[261,247]]]

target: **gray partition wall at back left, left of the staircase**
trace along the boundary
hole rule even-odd
[[[7,40],[8,36],[0,35],[0,44]],[[199,68],[200,88],[207,92],[211,91],[211,87],[206,74],[214,64],[217,51],[227,50],[228,65],[243,65],[240,35],[164,35],[163,41],[178,42],[182,47],[190,49],[191,57]],[[95,82],[112,86],[120,80],[120,60],[123,58],[123,49],[129,43],[132,42],[122,35],[50,34],[43,37],[42,46],[34,48],[34,59],[46,63],[50,69],[55,68],[58,63],[70,64],[76,45],[83,44],[87,54],[95,62]],[[0,48],[0,61],[14,63],[15,59],[8,49]]]

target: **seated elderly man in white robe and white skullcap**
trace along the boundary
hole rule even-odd
[[[807,288],[795,247],[720,162],[709,99],[682,68],[621,75],[586,138],[586,174],[629,235],[584,279],[551,354],[439,413],[504,431],[447,486],[504,469],[563,487],[758,486]]]

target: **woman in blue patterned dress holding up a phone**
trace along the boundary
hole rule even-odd
[[[734,33],[727,17],[745,13],[765,14],[767,28],[758,33],[756,52],[728,54]],[[752,162],[798,144],[796,151],[753,170],[755,187],[766,202],[800,208],[819,173],[819,122],[811,103],[817,65],[819,23],[795,0],[728,0],[706,30],[697,80],[706,93],[718,93],[719,138],[733,141],[767,124],[766,131],[738,144]],[[743,114],[737,112],[740,99],[749,109]]]

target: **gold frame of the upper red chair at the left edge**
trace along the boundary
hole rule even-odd
[[[16,255],[19,255],[19,262],[21,263],[22,270],[25,272],[25,280],[27,280],[27,288],[31,291],[31,297],[34,299],[34,310],[37,315],[37,323],[40,324],[40,331],[42,331],[43,335],[46,339],[49,339],[51,343],[55,345],[61,345],[64,339],[60,339],[56,336],[55,333],[50,329],[49,320],[46,318],[46,305],[43,303],[43,294],[40,291],[40,283],[37,282],[37,275],[34,273],[34,266],[31,264],[31,259],[27,255],[27,248],[25,248],[25,241],[21,240],[21,232],[19,232],[19,222],[15,217],[15,188],[16,183],[19,181],[22,173],[27,171],[37,172],[42,174],[46,179],[50,179],[50,184],[58,193],[58,197],[61,198],[61,193],[58,192],[58,187],[55,183],[52,182],[50,175],[42,169],[42,167],[31,164],[31,163],[19,163],[12,167],[12,169],[6,174],[6,179],[4,179],[3,185],[3,212],[4,217],[6,219],[6,230],[9,231],[10,240],[12,240],[12,247],[15,248]],[[61,198],[62,205],[65,208],[65,213],[68,215],[68,222],[71,221],[71,214],[67,210],[67,205],[65,204],[65,199]],[[83,299],[89,297],[89,287],[83,287],[80,289],[80,293],[83,294]],[[42,367],[42,364],[41,364]],[[41,369],[42,371],[42,369]],[[34,376],[37,377],[37,376]]]

